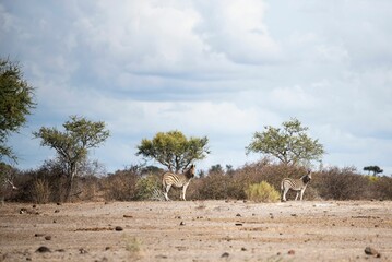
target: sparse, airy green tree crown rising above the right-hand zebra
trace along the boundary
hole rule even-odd
[[[247,146],[250,152],[261,153],[280,159],[285,165],[309,164],[321,160],[325,153],[319,141],[308,136],[308,128],[293,118],[282,123],[283,128],[264,127],[263,132],[256,132]]]

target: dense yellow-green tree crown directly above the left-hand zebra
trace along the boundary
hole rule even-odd
[[[136,155],[155,159],[170,171],[178,172],[192,162],[201,160],[210,154],[209,139],[187,139],[180,131],[158,132],[153,140],[143,139]]]

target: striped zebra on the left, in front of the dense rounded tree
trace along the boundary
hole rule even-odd
[[[165,200],[169,201],[169,196],[167,195],[171,186],[175,188],[182,188],[182,192],[180,194],[181,200],[186,200],[186,192],[189,186],[189,182],[194,177],[195,166],[192,164],[190,168],[183,174],[173,174],[165,172],[162,177],[162,184],[164,189]]]

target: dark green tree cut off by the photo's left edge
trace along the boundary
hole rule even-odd
[[[23,79],[21,66],[0,58],[0,160],[7,157],[16,162],[7,141],[25,124],[26,116],[36,105],[33,97],[34,88]]]

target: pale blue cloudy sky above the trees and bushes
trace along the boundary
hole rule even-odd
[[[10,144],[20,168],[55,152],[32,131],[102,120],[108,171],[143,138],[210,139],[199,163],[240,167],[256,131],[297,118],[324,166],[392,174],[392,1],[2,0],[1,57],[23,66],[37,108]]]

